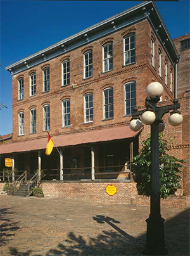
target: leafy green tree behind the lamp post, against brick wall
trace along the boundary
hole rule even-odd
[[[133,158],[132,171],[134,172],[134,181],[137,182],[139,195],[151,195],[151,139],[143,141],[142,150],[139,155]],[[159,155],[160,155],[160,197],[175,195],[175,191],[181,188],[182,163],[174,156],[168,155],[167,141],[163,139],[163,134],[159,134]]]

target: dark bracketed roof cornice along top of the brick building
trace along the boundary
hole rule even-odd
[[[179,61],[179,54],[175,49],[174,43],[168,33],[167,27],[162,20],[156,4],[152,1],[145,1],[129,8],[128,10],[122,11],[117,15],[113,15],[102,22],[92,25],[77,34],[67,37],[66,39],[63,39],[42,51],[38,51],[27,58],[17,61],[6,67],[6,70],[8,70],[12,75],[18,74],[23,70],[27,70],[35,65],[39,65],[51,60],[52,58],[68,53],[80,46],[85,46],[86,44],[100,39],[105,35],[124,29],[124,27],[128,27],[146,18],[153,26],[158,38],[160,38],[160,43],[167,51],[172,63],[174,64],[176,61]]]

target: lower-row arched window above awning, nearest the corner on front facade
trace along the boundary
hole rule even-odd
[[[130,115],[136,106],[136,82],[127,82],[125,88],[125,115]]]

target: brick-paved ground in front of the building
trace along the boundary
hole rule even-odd
[[[142,255],[149,207],[0,195],[3,256]],[[168,255],[189,255],[189,210],[162,208]]]

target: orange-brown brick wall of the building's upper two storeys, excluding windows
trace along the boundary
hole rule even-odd
[[[131,31],[136,33],[136,63],[123,66],[124,36]],[[155,68],[151,66],[151,36],[154,36],[156,40]],[[113,42],[113,70],[103,74],[102,45],[108,41]],[[163,84],[165,88],[163,98],[167,96],[168,99],[172,99],[174,95],[170,93],[170,89],[165,86],[163,81],[164,59],[168,59],[167,54],[163,50],[163,77],[160,78],[158,76],[158,47],[161,47],[160,42],[156,38],[156,35],[153,34],[148,20],[144,20],[143,22],[136,23],[109,36],[91,42],[85,47],[77,48],[53,60],[49,60],[45,64],[37,65],[20,74],[13,75],[13,141],[46,136],[46,132],[43,132],[42,127],[42,106],[46,103],[50,105],[51,135],[129,120],[130,117],[124,117],[124,84],[130,80],[136,80],[137,106],[144,104],[144,98],[146,97],[145,87],[154,80],[158,80]],[[93,77],[89,79],[83,79],[83,53],[85,49],[92,49],[93,52]],[[76,84],[75,89],[72,89],[70,85],[61,87],[61,61],[66,58],[70,59],[70,85]],[[170,66],[171,63],[168,59],[168,67]],[[42,93],[42,69],[44,67],[50,68],[50,91],[47,93]],[[36,72],[37,94],[30,97],[29,75],[32,72]],[[168,68],[168,80],[169,75]],[[18,101],[18,79],[20,77],[24,78],[24,99]],[[114,119],[103,122],[102,91],[108,86],[113,86]],[[92,91],[94,94],[94,122],[92,124],[84,124],[83,97],[84,93],[88,91]],[[70,98],[71,127],[61,128],[61,101],[65,98]],[[36,134],[30,134],[29,113],[31,108],[36,108],[37,111]],[[18,136],[18,113],[21,111],[25,114],[24,136]]]

